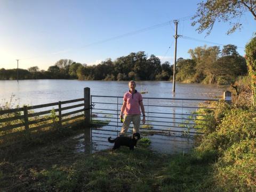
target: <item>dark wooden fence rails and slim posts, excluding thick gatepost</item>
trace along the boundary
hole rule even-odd
[[[13,134],[17,132],[29,133],[32,131],[41,130],[45,127],[52,127],[56,126],[58,123],[58,129],[61,128],[63,125],[68,126],[70,121],[73,121],[77,118],[84,117],[84,102],[79,103],[76,105],[71,105],[67,107],[62,107],[61,105],[67,103],[74,103],[79,101],[85,101],[84,98],[75,99],[75,100],[67,100],[67,101],[59,101],[53,103],[47,103],[43,105],[36,105],[36,106],[23,106],[17,109],[7,109],[1,110],[1,119],[0,119],[0,138],[6,137],[7,135]],[[57,107],[53,109],[43,110],[39,112],[33,112],[31,110],[34,109],[44,109],[46,107]],[[65,114],[61,114],[62,111],[67,111],[70,109],[77,109],[69,111]],[[83,114],[79,114],[83,113]],[[70,115],[73,115],[70,117]],[[67,117],[67,118],[63,118]],[[63,124],[65,122],[65,124]]]

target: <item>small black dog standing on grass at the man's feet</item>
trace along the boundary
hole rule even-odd
[[[134,149],[134,146],[137,145],[137,141],[140,139],[140,133],[133,133],[132,138],[119,136],[116,139],[111,140],[111,137],[108,138],[108,142],[115,143],[113,150],[118,149],[120,146],[127,146],[130,150]]]

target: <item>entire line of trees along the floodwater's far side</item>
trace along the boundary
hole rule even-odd
[[[236,51],[235,45],[196,47],[189,50],[191,59],[177,60],[177,81],[195,83],[230,83],[237,76],[245,75],[245,59]],[[107,59],[98,65],[87,66],[73,60],[61,59],[47,71],[37,66],[19,69],[19,79],[79,79],[79,80],[158,80],[172,79],[173,66],[155,55],[147,57],[144,51],[130,53],[115,61]],[[17,79],[17,69],[0,69],[0,79]]]

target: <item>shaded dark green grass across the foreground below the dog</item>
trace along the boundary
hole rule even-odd
[[[60,139],[56,134],[41,142],[27,143],[13,150],[12,155],[4,156],[10,149],[1,149],[0,189],[200,191],[205,189],[204,180],[211,173],[210,164],[202,164],[202,159],[195,156],[154,153],[148,148],[148,138],[140,140],[134,151],[121,147],[94,154],[76,153],[76,144],[77,140]]]

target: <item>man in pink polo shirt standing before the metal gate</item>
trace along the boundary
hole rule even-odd
[[[133,123],[133,133],[140,132],[140,108],[142,111],[142,123],[145,124],[145,109],[142,102],[141,94],[135,90],[136,83],[129,82],[129,91],[124,94],[124,102],[121,108],[120,118],[123,118],[124,123],[119,135],[124,135],[129,129],[130,123]]]

